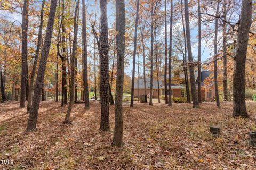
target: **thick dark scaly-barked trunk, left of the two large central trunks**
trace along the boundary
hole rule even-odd
[[[100,130],[109,131],[109,74],[107,0],[100,0]]]

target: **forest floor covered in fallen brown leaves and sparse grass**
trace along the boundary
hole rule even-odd
[[[74,104],[74,125],[63,125],[67,106],[41,103],[37,131],[25,134],[26,108],[0,103],[0,161],[5,169],[255,169],[256,148],[248,144],[248,131],[256,131],[256,103],[248,102],[250,119],[231,117],[233,103],[191,104],[124,103],[124,147],[111,146],[114,105],[110,106],[110,132],[100,132],[100,104],[90,109]],[[214,138],[210,125],[219,125]]]

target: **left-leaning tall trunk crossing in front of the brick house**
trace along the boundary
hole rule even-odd
[[[184,1],[184,8],[185,8],[186,37],[187,37],[189,74],[190,74],[190,84],[191,84],[191,92],[192,92],[192,99],[193,99],[193,108],[198,108],[199,103],[198,103],[198,96],[196,92],[194,63],[193,63],[193,55],[192,55],[191,40],[190,40],[188,0]]]

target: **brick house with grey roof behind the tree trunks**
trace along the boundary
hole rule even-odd
[[[198,76],[197,72],[195,72],[195,79],[196,82],[198,82]],[[176,78],[175,78],[176,77]],[[177,74],[172,74],[172,78],[177,80]],[[184,79],[183,75],[179,75],[179,78]],[[205,80],[210,80],[210,83],[205,84]],[[153,98],[158,98],[158,86],[157,86],[157,80],[153,78]],[[172,97],[185,97],[186,95],[186,86],[185,83],[180,84],[172,84]],[[139,88],[138,88],[139,87]],[[168,84],[167,84],[168,88]],[[189,86],[190,88],[190,86]],[[197,83],[196,83],[197,88]],[[191,90],[191,89],[190,89]],[[145,87],[144,87],[144,79],[139,78],[138,80],[135,80],[134,83],[134,97],[138,97],[138,95],[145,94]],[[150,78],[146,78],[146,94],[149,97],[150,94]],[[164,98],[165,96],[165,90],[164,90],[164,78],[163,76],[159,77],[159,95],[161,98]],[[215,98],[215,92],[214,92],[214,86],[213,81],[211,78],[211,72],[210,71],[202,71],[201,72],[201,99],[202,101],[212,101]]]

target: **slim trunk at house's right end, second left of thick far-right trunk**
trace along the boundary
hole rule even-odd
[[[216,18],[215,18],[215,35],[214,35],[214,88],[215,88],[215,98],[217,107],[220,107],[219,89],[218,89],[218,51],[217,51],[217,38],[218,38],[218,16],[219,16],[220,0],[218,0]]]

